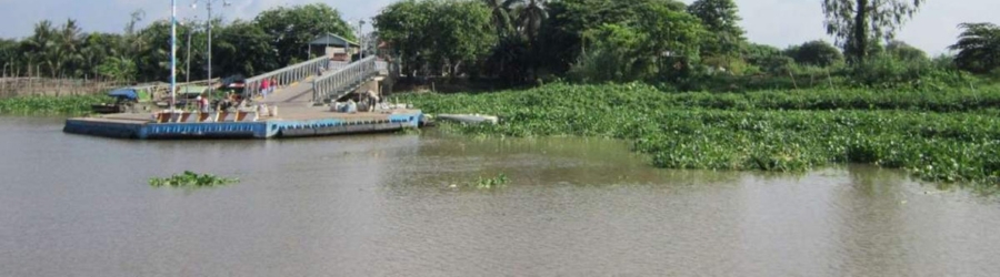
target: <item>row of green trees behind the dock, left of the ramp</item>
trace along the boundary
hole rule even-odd
[[[74,20],[53,25],[46,20],[22,40],[0,40],[0,63],[7,76],[103,78],[119,81],[166,81],[170,78],[170,22],[139,28],[136,12],[122,33],[83,32]],[[252,21],[212,20],[212,74],[254,75],[308,59],[306,42],[323,32],[353,39],[340,13],[323,3],[278,7]],[[207,78],[206,22],[177,27],[178,80]]]

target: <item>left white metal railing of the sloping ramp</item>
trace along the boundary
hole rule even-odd
[[[273,82],[269,85],[274,88],[279,84],[288,85],[298,81],[302,81],[309,76],[319,74],[321,70],[337,70],[346,65],[346,62],[333,62],[330,61],[329,57],[323,55],[309,61],[288,65],[276,71],[256,75],[253,78],[249,78],[243,83],[243,93],[251,98],[260,95],[260,83],[264,79],[271,79]]]

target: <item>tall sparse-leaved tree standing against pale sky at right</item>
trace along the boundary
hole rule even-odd
[[[823,0],[827,33],[837,38],[844,54],[863,62],[878,40],[891,40],[896,30],[927,0]]]

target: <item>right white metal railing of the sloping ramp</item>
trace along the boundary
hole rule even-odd
[[[312,81],[312,101],[323,102],[326,99],[339,98],[348,90],[378,74],[376,57],[352,62],[333,73],[322,75]]]

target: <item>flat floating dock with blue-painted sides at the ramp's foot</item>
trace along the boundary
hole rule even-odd
[[[420,110],[338,113],[329,106],[282,107],[280,116],[237,113],[134,113],[73,117],[63,132],[120,138],[272,138],[416,129]]]

